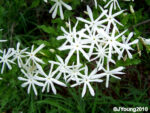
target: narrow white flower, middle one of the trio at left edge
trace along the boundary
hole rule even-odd
[[[16,50],[14,50],[14,60],[17,59],[18,62],[18,66],[21,67],[21,65],[23,64],[22,58],[25,58],[25,52],[28,48],[25,48],[23,50],[20,50],[20,43],[17,43],[17,48]]]

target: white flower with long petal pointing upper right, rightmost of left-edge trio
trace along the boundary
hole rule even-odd
[[[37,49],[34,50],[34,45],[31,48],[31,52],[25,52],[27,54],[27,56],[29,57],[28,60],[26,61],[26,64],[30,63],[30,61],[33,61],[33,63],[38,64],[44,64],[44,62],[39,59],[38,57],[36,57],[36,53],[39,52],[45,45],[41,44]]]

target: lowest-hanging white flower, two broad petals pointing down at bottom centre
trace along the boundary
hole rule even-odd
[[[82,90],[82,97],[84,97],[85,93],[86,93],[86,89],[88,87],[90,93],[92,96],[95,95],[95,92],[92,88],[92,86],[90,85],[91,82],[103,82],[103,80],[99,79],[99,78],[93,78],[94,76],[97,76],[97,69],[95,68],[89,75],[88,75],[88,67],[85,66],[85,71],[84,71],[84,75],[82,75],[81,79],[80,79],[80,82],[79,83],[75,83],[73,85],[71,85],[71,87],[75,87],[75,86],[78,86],[78,85],[81,85],[81,84],[84,84],[83,86],[83,90]]]

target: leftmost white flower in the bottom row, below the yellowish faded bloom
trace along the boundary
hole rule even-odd
[[[30,93],[31,87],[34,90],[35,95],[37,95],[37,90],[35,85],[42,87],[44,84],[38,81],[38,72],[33,74],[29,72],[25,72],[23,69],[21,69],[21,72],[24,74],[25,77],[18,77],[19,80],[24,81],[24,83],[21,85],[22,87],[28,86],[27,92]]]

